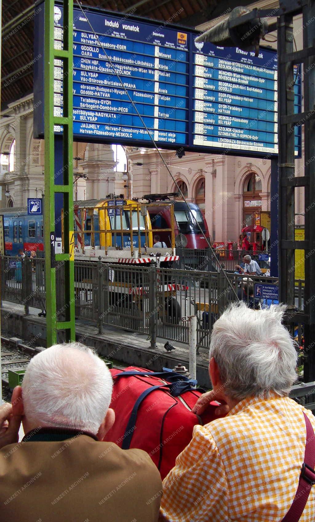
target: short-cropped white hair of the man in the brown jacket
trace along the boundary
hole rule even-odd
[[[97,434],[112,395],[110,371],[78,342],[55,345],[31,359],[22,382],[27,419],[41,426]]]

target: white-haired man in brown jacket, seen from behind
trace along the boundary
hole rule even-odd
[[[114,422],[111,394],[110,372],[89,348],[35,355],[12,404],[0,406],[1,522],[157,520],[161,479],[150,457],[99,442]]]

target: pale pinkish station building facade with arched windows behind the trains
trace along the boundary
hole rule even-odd
[[[251,7],[273,8],[277,3],[260,0]],[[274,19],[272,19],[274,21]],[[204,24],[201,31],[217,20]],[[302,48],[301,18],[295,20],[297,49]],[[270,40],[269,40],[270,41]],[[266,43],[265,43],[266,45]],[[275,43],[268,45],[275,47]],[[33,138],[33,96],[8,105],[0,122],[0,206],[26,206],[28,197],[44,191],[44,140]],[[142,197],[177,192],[202,209],[213,241],[236,242],[241,229],[258,223],[260,212],[271,207],[271,162],[224,154],[160,150],[170,176],[154,149],[126,147],[126,167],[118,170],[113,148],[107,144],[74,143],[74,199],[100,199],[107,194]],[[296,175],[304,175],[302,158]],[[175,183],[176,182],[176,183]],[[296,188],[296,224],[304,224],[304,188]]]

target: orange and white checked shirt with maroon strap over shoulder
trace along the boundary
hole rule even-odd
[[[295,497],[306,425],[315,417],[288,397],[241,400],[225,418],[194,427],[163,482],[160,520],[280,522]],[[315,486],[300,522],[315,520]]]

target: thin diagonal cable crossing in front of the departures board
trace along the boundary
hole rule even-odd
[[[141,120],[141,122],[142,122],[142,124],[143,124],[143,126],[144,126],[144,128],[145,128],[145,130],[146,130],[146,132],[148,133],[149,138],[151,139],[151,141],[152,141],[152,143],[153,143],[155,149],[157,150],[157,152],[158,152],[158,154],[159,154],[159,156],[160,156],[162,162],[164,163],[164,165],[165,165],[165,167],[166,167],[166,169],[167,169],[169,175],[171,176],[171,179],[173,180],[173,183],[177,186],[178,191],[179,191],[180,195],[182,196],[185,205],[187,206],[188,210],[190,210],[190,207],[189,207],[189,205],[188,205],[188,203],[187,203],[187,201],[186,201],[186,198],[185,198],[184,194],[183,194],[182,191],[181,191],[181,188],[179,187],[177,181],[174,179],[174,176],[172,175],[171,171],[169,170],[169,167],[168,167],[168,165],[167,165],[165,159],[164,159],[163,156],[161,155],[161,152],[160,152],[160,150],[159,150],[159,148],[158,148],[158,146],[157,146],[157,144],[156,144],[156,141],[155,141],[154,137],[153,137],[153,136],[151,135],[151,133],[149,132],[149,129],[148,129],[147,125],[145,124],[143,117],[142,117],[141,114],[139,113],[139,111],[138,111],[138,109],[137,109],[137,107],[136,107],[134,101],[132,100],[132,98],[131,98],[129,92],[128,92],[127,89],[125,88],[124,83],[123,83],[123,81],[122,81],[120,75],[119,75],[118,72],[116,71],[116,69],[115,69],[115,67],[114,67],[114,65],[113,65],[113,62],[112,62],[110,56],[107,54],[106,50],[104,49],[103,44],[100,42],[99,37],[98,37],[98,34],[96,33],[96,31],[95,31],[94,28],[92,27],[89,18],[86,17],[86,15],[85,15],[85,13],[84,13],[84,10],[83,10],[83,8],[81,7],[81,5],[79,4],[78,0],[76,0],[76,3],[77,3],[77,5],[78,5],[79,9],[81,10],[81,13],[83,14],[83,16],[86,18],[86,20],[87,20],[87,22],[88,22],[88,25],[90,26],[92,32],[94,33],[95,39],[98,41],[99,47],[102,49],[102,51],[103,51],[103,53],[104,53],[104,55],[105,55],[105,57],[106,57],[106,60],[109,62],[111,68],[113,69],[114,74],[115,74],[116,77],[118,78],[118,80],[119,80],[119,82],[120,82],[122,88],[124,89],[124,91],[125,91],[127,97],[129,98],[131,104],[133,105],[134,110],[136,111],[137,115],[139,116],[139,118],[140,118],[140,120]],[[204,239],[206,240],[206,242],[207,242],[209,248],[211,249],[211,252],[212,252],[212,254],[213,254],[213,256],[214,256],[214,258],[215,258],[215,260],[216,260],[216,262],[217,262],[217,265],[218,265],[219,269],[223,272],[224,277],[225,277],[225,279],[227,280],[230,289],[232,290],[232,292],[234,292],[236,298],[239,299],[239,298],[238,298],[238,295],[237,295],[237,292],[235,291],[234,287],[232,286],[232,283],[230,282],[229,278],[227,277],[226,271],[224,270],[223,266],[222,266],[222,265],[220,264],[220,262],[219,262],[218,257],[216,256],[216,253],[215,253],[215,251],[214,251],[214,248],[212,247],[211,243],[209,242],[208,238],[206,237],[206,235],[205,235],[204,231],[202,230],[202,228],[201,228],[199,222],[198,222],[195,218],[194,218],[194,220],[195,220],[195,224],[196,224],[197,228],[200,230],[200,232],[201,232],[201,234],[203,235]]]

